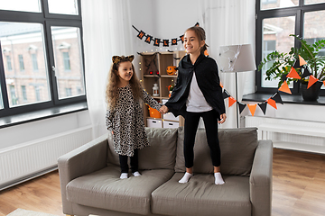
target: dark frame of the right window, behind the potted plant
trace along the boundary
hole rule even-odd
[[[294,34],[303,35],[303,21],[304,14],[314,11],[325,11],[325,3],[320,4],[304,4],[304,0],[299,0],[298,6],[288,7],[288,8],[275,8],[275,9],[266,9],[261,10],[261,0],[256,1],[255,4],[255,61],[258,66],[259,63],[263,60],[263,20],[267,18],[280,18],[286,16],[295,16],[295,29]],[[289,36],[289,35],[288,35]],[[325,37],[325,35],[324,35]],[[294,47],[300,48],[300,42],[297,39],[294,39]],[[274,90],[277,90],[276,87],[262,87],[262,73],[259,70],[256,70],[255,73],[255,89],[256,93],[261,94],[274,94]],[[293,82],[293,87],[291,88],[292,94],[301,94],[301,89],[298,82]],[[325,95],[325,89],[320,90],[320,95]]]

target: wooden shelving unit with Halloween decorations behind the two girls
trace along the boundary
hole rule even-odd
[[[166,68],[176,66],[185,55],[185,51],[145,53],[140,58],[141,80],[145,91],[154,99],[164,103],[169,99],[168,85],[176,82],[177,75],[168,75]],[[158,71],[158,74],[157,74]],[[159,86],[159,96],[153,96],[153,84]],[[175,118],[171,112],[161,118],[152,118],[148,106],[144,104],[144,124],[146,127],[179,127],[184,125],[184,119]]]

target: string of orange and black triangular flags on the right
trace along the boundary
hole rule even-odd
[[[293,66],[295,67],[303,67],[304,65],[306,65],[307,62],[301,57],[299,56],[299,59],[294,63]],[[303,77],[307,77],[309,76],[309,80],[308,80],[308,86],[307,88],[310,88],[311,85],[318,85],[319,87],[321,85],[325,85],[325,81],[320,81],[318,78],[316,78],[315,76],[313,76],[311,74],[311,72],[309,71],[308,67],[303,67],[303,73],[302,76],[300,76],[297,71],[294,69],[294,67],[291,67],[291,70],[288,74],[283,75],[282,80],[283,80],[283,85],[281,85],[278,88],[278,91],[276,91],[271,97],[269,97],[267,100],[265,100],[262,103],[241,103],[241,102],[237,102],[237,100],[232,97],[228,91],[226,89],[223,90],[223,98],[226,99],[228,98],[228,107],[232,106],[234,103],[237,103],[238,108],[239,108],[239,113],[243,112],[245,107],[247,106],[249,111],[251,112],[252,116],[254,116],[255,114],[255,110],[257,105],[260,107],[260,109],[262,110],[262,112],[265,114],[266,113],[266,107],[267,104],[269,104],[270,106],[274,107],[274,109],[277,109],[276,103],[281,103],[283,104],[283,100],[281,98],[280,92],[284,92],[287,94],[292,94],[288,83],[286,82],[287,78],[296,78],[296,79],[302,79]],[[220,83],[221,87],[223,87],[223,85]]]

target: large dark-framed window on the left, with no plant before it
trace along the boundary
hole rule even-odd
[[[1,117],[86,102],[80,12],[80,0],[0,0]]]

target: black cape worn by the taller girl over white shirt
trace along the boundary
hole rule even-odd
[[[190,62],[190,55],[181,58],[176,85],[172,89],[171,98],[165,105],[175,116],[185,116],[186,101],[190,92],[190,81],[193,71],[195,71],[195,76],[204,98],[218,112],[219,118],[220,114],[226,113],[226,109],[218,76],[218,66],[213,58],[206,57],[202,53],[194,65]]]

